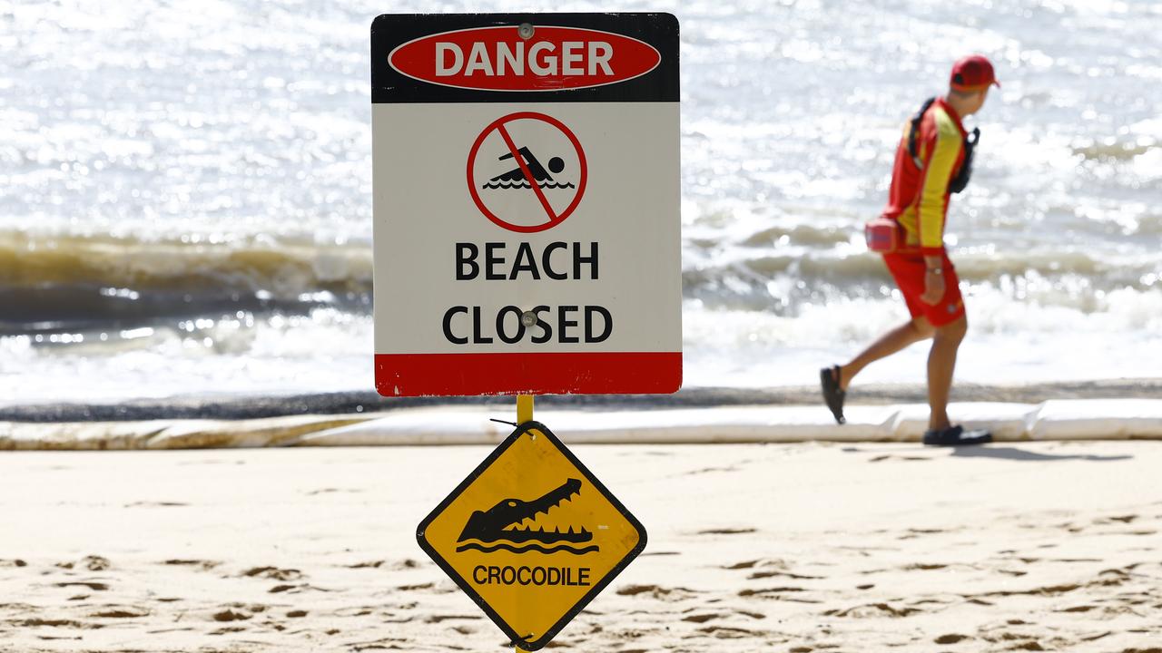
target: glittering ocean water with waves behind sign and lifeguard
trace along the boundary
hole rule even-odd
[[[1162,376],[1157,2],[21,0],[0,403],[372,388],[371,21],[516,9],[681,22],[687,386],[812,383],[906,318],[861,225],[969,52],[1003,87],[948,218],[957,378]]]

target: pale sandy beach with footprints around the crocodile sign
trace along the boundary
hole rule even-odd
[[[1162,443],[573,450],[650,543],[552,647],[1162,651]],[[501,650],[415,541],[489,451],[5,453],[0,650]]]

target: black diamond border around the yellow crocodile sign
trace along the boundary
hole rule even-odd
[[[602,496],[604,496],[605,500],[609,501],[610,504],[612,504],[614,508],[616,508],[617,511],[621,512],[622,516],[625,517],[625,519],[638,531],[639,537],[637,546],[634,546],[629,553],[626,553],[625,558],[623,558],[617,565],[615,565],[614,568],[610,569],[609,573],[607,573],[605,576],[597,582],[597,584],[593,586],[593,588],[590,588],[589,591],[587,591],[586,595],[582,596],[573,605],[573,608],[569,608],[569,610],[565,612],[565,615],[560,619],[558,619],[555,624],[553,624],[547,631],[545,631],[544,636],[541,636],[539,639],[535,641],[526,641],[519,633],[512,630],[504,622],[504,619],[502,619],[500,615],[497,615],[496,611],[492,609],[490,605],[488,605],[488,603],[483,600],[482,596],[480,596],[480,594],[478,594],[474,589],[472,589],[472,584],[467,580],[460,576],[460,574],[451,565],[449,565],[447,561],[440,558],[440,555],[436,552],[436,550],[432,548],[430,544],[428,544],[428,540],[424,538],[424,531],[428,530],[428,526],[431,525],[431,523],[436,519],[436,517],[438,517],[442,512],[444,512],[444,510],[446,510],[447,507],[453,501],[456,501],[457,498],[459,498],[461,494],[464,494],[464,490],[466,490],[468,486],[475,482],[476,479],[479,479],[480,475],[485,473],[485,469],[488,469],[488,467],[490,467],[493,462],[495,462],[496,459],[501,457],[502,453],[508,451],[508,449],[512,446],[512,444],[516,443],[516,440],[521,436],[528,433],[533,429],[540,431],[541,435],[544,435],[546,438],[550,439],[550,442],[553,443],[553,446],[555,446],[557,450],[560,451],[561,454],[565,455],[565,458],[569,462],[572,462],[573,466],[576,467],[582,475],[584,475],[586,480],[593,483],[593,486],[597,488],[597,491],[601,493]],[[641,553],[641,551],[645,550],[646,528],[643,526],[641,522],[638,522],[638,518],[634,517],[632,514],[630,514],[630,511],[626,510],[624,505],[622,505],[622,502],[618,501],[617,497],[615,497],[612,493],[610,493],[609,489],[607,489],[605,486],[602,485],[602,482],[598,481],[597,478],[593,475],[593,472],[590,472],[588,467],[582,465],[581,461],[578,460],[575,455],[573,455],[573,452],[569,451],[568,447],[566,447],[565,444],[561,443],[561,440],[559,440],[557,436],[554,436],[553,432],[548,430],[547,426],[545,426],[540,422],[529,421],[517,426],[516,430],[512,431],[512,433],[508,438],[505,438],[504,442],[500,444],[500,446],[497,446],[490,454],[488,454],[488,458],[486,458],[483,462],[478,465],[476,468],[473,469],[472,473],[468,474],[468,476],[459,486],[457,486],[456,489],[452,490],[452,493],[449,494],[447,497],[444,501],[442,501],[440,504],[437,505],[435,510],[432,510],[426,517],[424,517],[422,522],[419,522],[419,525],[416,526],[416,540],[419,543],[419,548],[424,550],[424,553],[426,553],[429,558],[431,558],[437,565],[439,565],[439,568],[444,569],[444,573],[447,574],[449,577],[451,577],[453,581],[456,581],[456,584],[460,586],[460,589],[462,589],[464,593],[468,595],[468,598],[472,598],[472,601],[476,605],[479,605],[480,609],[483,610],[486,615],[488,615],[488,618],[490,618],[493,623],[495,623],[504,632],[504,634],[507,634],[509,639],[512,640],[514,646],[519,646],[525,651],[539,651],[540,648],[544,648],[545,645],[547,645],[550,640],[552,640],[553,637],[555,637],[557,633],[561,631],[561,629],[564,629],[569,622],[572,622],[573,618],[576,617],[578,613],[581,612],[581,610],[583,610],[584,607],[588,605],[590,601],[596,598],[597,595],[601,594],[601,590],[605,589],[605,586],[608,586],[615,577],[617,577],[622,573],[622,571],[624,571],[625,567],[629,566],[629,564],[632,562],[633,559],[637,558],[639,553]]]

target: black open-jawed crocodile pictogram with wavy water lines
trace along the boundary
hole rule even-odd
[[[537,525],[538,515],[547,515],[550,510],[567,503],[581,493],[581,481],[568,479],[560,487],[552,489],[531,501],[519,498],[502,498],[488,510],[476,510],[468,517],[460,539],[466,543],[457,546],[457,551],[476,550],[483,553],[509,551],[512,553],[573,553],[583,555],[600,551],[597,545],[581,546],[593,540],[593,533],[584,526],[560,526],[546,530]],[[525,521],[532,522],[522,525]]]

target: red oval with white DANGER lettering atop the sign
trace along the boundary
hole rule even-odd
[[[573,27],[461,29],[400,45],[388,64],[413,79],[474,91],[566,91],[641,77],[661,63],[637,38]]]

